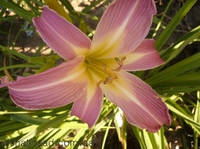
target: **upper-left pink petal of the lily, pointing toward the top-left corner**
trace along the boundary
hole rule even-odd
[[[85,34],[48,7],[39,18],[33,18],[33,23],[42,39],[64,59],[90,48],[91,41]]]

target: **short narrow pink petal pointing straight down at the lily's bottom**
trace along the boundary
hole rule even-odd
[[[99,117],[102,96],[102,91],[99,87],[94,87],[94,89],[87,88],[87,93],[74,102],[71,114],[78,116],[91,128]]]

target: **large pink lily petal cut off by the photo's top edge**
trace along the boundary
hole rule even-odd
[[[97,26],[92,47],[102,42],[109,42],[108,46],[121,42],[115,49],[117,53],[134,50],[147,36],[154,14],[153,0],[115,0]]]

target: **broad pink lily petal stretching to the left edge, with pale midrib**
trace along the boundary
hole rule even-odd
[[[13,102],[24,109],[47,109],[78,100],[86,83],[80,81],[81,59],[73,59],[41,74],[20,77],[8,84]]]

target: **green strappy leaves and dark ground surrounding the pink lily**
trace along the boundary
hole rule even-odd
[[[59,13],[90,38],[111,0],[55,0]],[[0,149],[190,149],[200,148],[200,1],[156,0],[158,14],[148,35],[166,61],[159,68],[133,72],[149,83],[170,109],[172,124],[149,133],[128,124],[104,99],[92,129],[70,116],[72,105],[27,111],[0,89]],[[46,4],[45,4],[46,3]],[[63,60],[41,40],[32,18],[48,0],[0,0],[0,78],[28,76]]]

